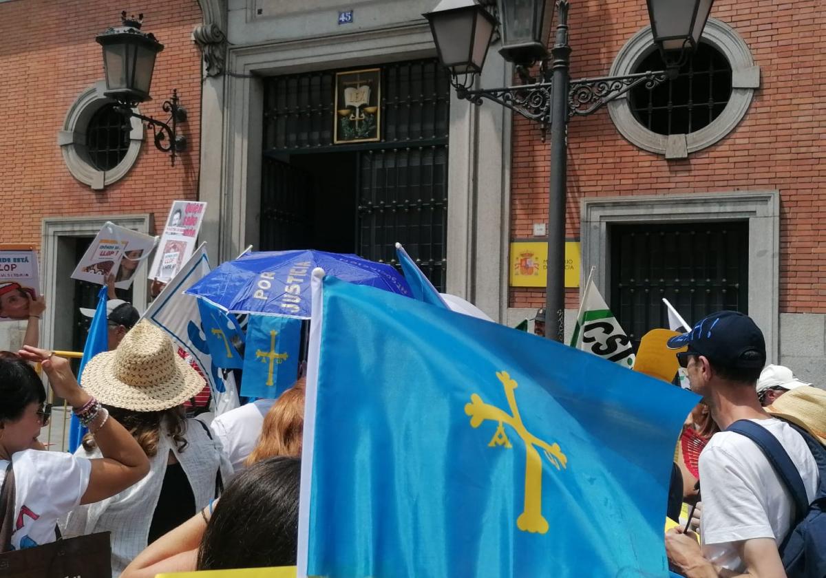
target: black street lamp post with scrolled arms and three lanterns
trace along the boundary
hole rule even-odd
[[[490,0],[486,0],[490,4]],[[571,80],[568,44],[569,0],[556,0],[557,29],[548,55],[543,28],[546,0],[497,0],[503,58],[516,64],[521,84],[504,88],[475,88],[493,36],[496,21],[478,0],[442,0],[424,14],[430,22],[439,61],[449,69],[456,96],[482,104],[484,100],[539,122],[551,133],[551,179],[548,195],[548,287],[545,295],[545,336],[563,341],[565,320],[565,202],[567,197],[567,123],[587,116],[634,87],[653,89],[675,78],[702,36],[714,0],[647,0],[654,41],[665,70],[624,76]],[[481,57],[481,61],[479,58]],[[528,69],[539,63],[539,77]],[[548,319],[549,316],[549,319]]]

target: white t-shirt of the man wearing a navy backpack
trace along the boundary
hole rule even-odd
[[[781,419],[752,419],[780,441],[814,500],[817,463],[800,436]],[[795,516],[794,500],[762,450],[735,432],[714,434],[700,454],[703,554],[731,571],[746,570],[732,542],[751,538],[786,538]]]

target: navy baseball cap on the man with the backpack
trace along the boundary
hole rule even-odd
[[[703,355],[727,367],[751,369],[766,365],[763,332],[751,317],[738,311],[709,315],[688,333],[668,339],[667,346],[670,349],[688,346],[688,353]]]

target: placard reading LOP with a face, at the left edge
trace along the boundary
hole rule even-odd
[[[0,321],[25,320],[40,291],[37,254],[30,245],[0,244]]]

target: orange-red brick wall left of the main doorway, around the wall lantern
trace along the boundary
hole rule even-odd
[[[161,105],[178,88],[189,114],[181,126],[188,150],[170,167],[149,130],[126,177],[93,191],[69,173],[57,136],[78,95],[103,78],[95,36],[119,25],[121,7],[102,0],[0,3],[0,242],[39,246],[43,217],[151,213],[157,227],[173,199],[197,198],[201,54],[191,34],[201,9],[197,0],[145,0],[139,8],[145,30],[164,45],[154,69],[154,99],[140,111],[166,121]]]

